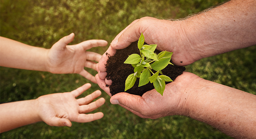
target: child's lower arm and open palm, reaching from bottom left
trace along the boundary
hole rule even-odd
[[[0,105],[0,132],[43,121],[50,126],[72,126],[73,122],[86,123],[103,117],[103,113],[89,113],[105,103],[99,90],[84,98],[75,99],[90,88],[87,83],[74,91],[40,96],[34,100],[16,101]],[[64,103],[63,103],[64,102]]]

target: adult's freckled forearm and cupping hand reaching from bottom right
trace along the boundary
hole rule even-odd
[[[104,83],[104,80],[96,79]],[[107,88],[105,91],[109,92]],[[256,95],[189,72],[167,84],[163,96],[155,89],[142,96],[123,92],[113,95],[110,102],[142,118],[185,115],[237,139],[256,137]]]

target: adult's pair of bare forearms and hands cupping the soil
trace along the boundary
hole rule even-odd
[[[231,0],[211,10],[178,20],[143,17],[121,31],[106,51],[122,49],[139,39],[141,32],[148,44],[160,51],[174,52],[173,63],[184,66],[204,57],[256,45],[256,1]],[[106,79],[103,54],[95,76],[99,86],[110,96],[111,80]],[[183,72],[166,85],[161,94],[155,89],[142,96],[118,93],[112,104],[132,111],[142,118],[185,115],[205,122],[234,138],[256,138],[256,95],[204,80]]]

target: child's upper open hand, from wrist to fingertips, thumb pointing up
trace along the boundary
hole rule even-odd
[[[87,72],[84,68],[92,68],[95,70],[96,63],[99,62],[101,55],[86,50],[97,47],[106,46],[105,40],[87,40],[76,45],[67,45],[74,39],[74,33],[61,38],[55,43],[47,53],[46,67],[48,71],[54,74],[80,74],[96,83],[95,77]]]

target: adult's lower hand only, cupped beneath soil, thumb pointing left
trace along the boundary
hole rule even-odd
[[[187,101],[195,98],[193,92],[194,86],[202,78],[190,73],[183,72],[174,82],[166,85],[163,96],[155,89],[144,93],[142,96],[129,93],[117,93],[110,98],[112,104],[119,104],[123,108],[142,117],[156,119],[169,115],[186,115],[187,109],[184,107]],[[109,93],[109,88],[96,75],[96,80],[100,87]]]

